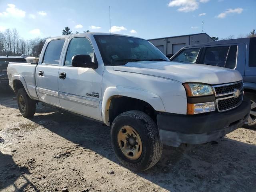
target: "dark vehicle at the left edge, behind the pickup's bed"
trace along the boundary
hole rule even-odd
[[[26,62],[23,57],[0,56],[0,90],[9,88],[9,80],[7,76],[7,66],[9,62]]]

